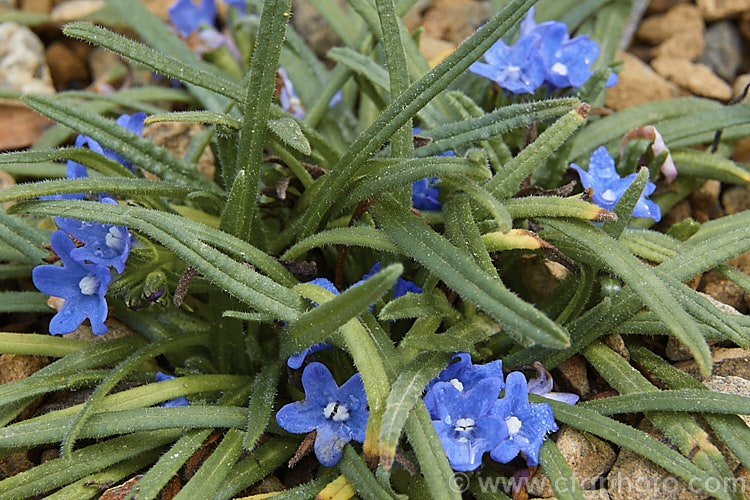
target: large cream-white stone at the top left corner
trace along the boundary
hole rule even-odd
[[[27,27],[0,24],[0,90],[54,94],[44,45]]]

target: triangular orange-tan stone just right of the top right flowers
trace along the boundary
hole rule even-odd
[[[617,111],[651,101],[672,99],[681,94],[679,88],[659,76],[637,57],[618,52],[615,59],[621,59],[625,65],[618,84],[607,89],[604,105],[608,108]]]

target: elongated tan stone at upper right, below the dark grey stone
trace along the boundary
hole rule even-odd
[[[693,63],[687,59],[657,57],[651,67],[664,78],[695,95],[728,101],[732,97],[729,84],[716,76],[705,64]]]

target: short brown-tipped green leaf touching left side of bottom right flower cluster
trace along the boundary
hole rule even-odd
[[[448,365],[448,354],[423,353],[417,355],[399,374],[386,401],[380,428],[380,461],[390,469],[399,436],[414,405],[421,404],[424,388]]]

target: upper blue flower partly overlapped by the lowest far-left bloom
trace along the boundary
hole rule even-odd
[[[101,197],[101,202],[117,205],[115,200],[106,196]],[[133,235],[126,227],[64,217],[55,217],[55,223],[57,227],[83,243],[82,247],[74,248],[70,252],[73,260],[112,266],[118,273],[125,270],[125,261],[128,260],[133,245]]]

